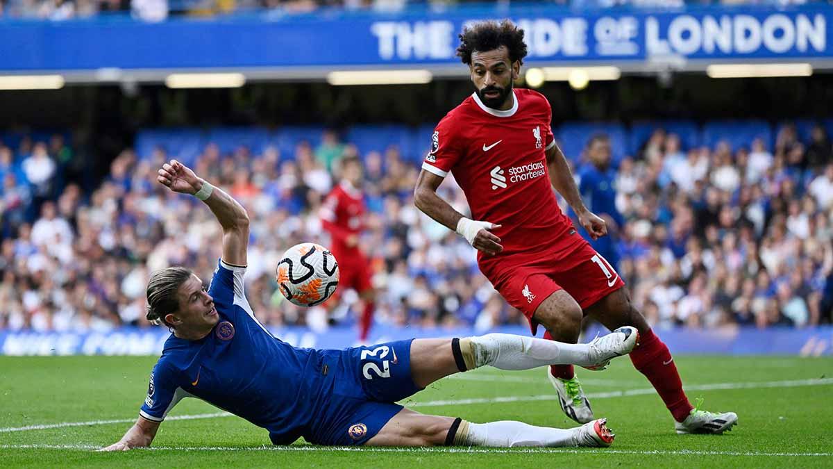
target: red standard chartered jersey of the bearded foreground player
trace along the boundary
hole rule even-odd
[[[555,144],[550,103],[530,89],[514,93],[506,111],[487,108],[476,93],[466,98],[437,124],[422,164],[441,177],[454,174],[473,219],[502,225],[492,231],[503,252],[478,253],[481,268],[491,260],[524,264],[544,250],[561,259],[581,243],[546,167],[546,149]]]

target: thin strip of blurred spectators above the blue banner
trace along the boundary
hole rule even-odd
[[[827,0],[548,0],[573,8],[681,8],[686,5],[802,5]],[[0,18],[39,18],[62,21],[90,18],[102,13],[131,13],[145,21],[162,21],[169,15],[205,17],[263,11],[298,14],[322,10],[397,12],[409,6],[444,10],[482,0],[0,0]],[[498,2],[508,6],[510,0]],[[523,2],[519,2],[523,3]],[[526,2],[528,3],[528,2]]]

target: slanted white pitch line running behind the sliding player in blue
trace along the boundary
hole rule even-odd
[[[686,386],[686,391],[714,391],[714,390],[732,390],[732,389],[763,389],[763,388],[781,388],[781,387],[798,387],[798,386],[826,386],[833,385],[833,378],[823,378],[814,380],[791,380],[791,381],[760,381],[760,382],[746,382],[746,383],[712,383],[706,385]],[[591,392],[586,396],[590,399],[606,399],[610,397],[626,397],[626,396],[643,396],[646,394],[653,394],[654,388],[631,389],[626,391],[610,391],[610,392]],[[556,395],[543,396],[502,396],[502,397],[477,397],[472,399],[456,399],[447,401],[425,401],[425,402],[405,402],[407,407],[434,407],[434,406],[456,406],[465,404],[492,404],[498,402],[524,402],[524,401],[555,401],[558,399]],[[167,421],[177,420],[195,420],[214,417],[232,416],[228,412],[214,412],[210,414],[196,414],[186,416],[169,416]],[[62,423],[52,423],[44,425],[29,425],[0,428],[0,433],[8,433],[12,431],[30,431],[30,430],[48,430],[51,428],[64,428],[67,426],[94,426],[94,425],[108,425],[112,423],[131,423],[136,421],[137,417],[128,419],[113,419],[113,420],[97,420],[97,421],[72,421]],[[640,453],[642,454],[642,453]],[[647,454],[647,453],[646,453]]]

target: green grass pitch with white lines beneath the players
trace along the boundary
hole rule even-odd
[[[579,369],[596,416],[616,431],[611,448],[268,446],[266,431],[186,399],[160,427],[155,449],[92,451],[117,441],[136,419],[155,360],[0,357],[0,466],[833,466],[833,359],[781,356],[676,358],[692,401],[703,397],[705,409],[737,412],[738,426],[724,436],[676,435],[659,396],[623,358],[608,371]],[[553,395],[542,370],[489,368],[439,381],[403,404],[476,422],[572,426]]]

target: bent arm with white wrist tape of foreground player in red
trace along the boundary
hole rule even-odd
[[[481,250],[488,255],[496,255],[503,250],[501,239],[489,232],[490,229],[500,228],[500,224],[492,224],[487,221],[467,219],[463,214],[456,211],[445,200],[436,194],[436,188],[440,187],[442,178],[422,169],[419,179],[416,179],[414,189],[414,204],[422,213],[435,219],[438,223],[453,229],[458,235],[466,238],[470,245],[476,250]]]

